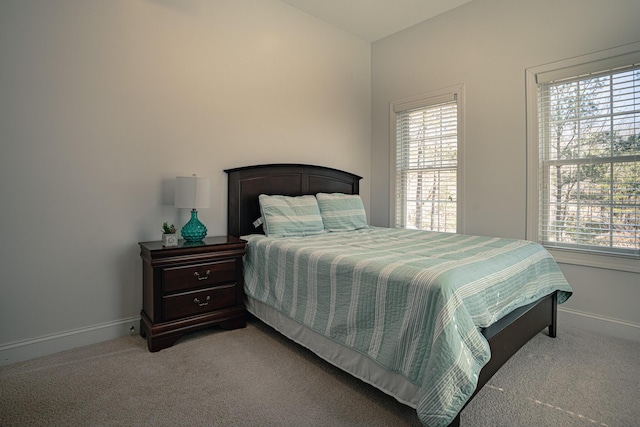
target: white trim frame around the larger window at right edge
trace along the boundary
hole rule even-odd
[[[528,68],[526,80],[527,118],[527,213],[526,239],[540,242],[540,158],[538,85],[552,80],[573,78],[605,69],[615,69],[640,63],[640,42],[596,53]],[[640,272],[639,258],[634,255],[573,248],[547,248],[556,261],[612,270]]]

